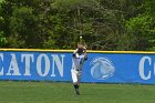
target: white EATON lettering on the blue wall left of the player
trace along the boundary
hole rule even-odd
[[[19,55],[10,53],[4,56],[3,53],[0,53],[0,75],[31,76],[37,72],[39,76],[56,76],[58,74],[63,76],[64,58],[64,54],[51,54],[49,56],[41,53],[34,56],[31,53],[21,53]]]

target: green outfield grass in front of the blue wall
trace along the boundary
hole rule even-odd
[[[0,103],[155,103],[155,85],[0,81]]]

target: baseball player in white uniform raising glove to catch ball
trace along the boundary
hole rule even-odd
[[[72,81],[75,89],[75,93],[78,95],[80,95],[79,84],[81,79],[82,66],[85,60],[87,60],[86,49],[78,48],[73,53],[72,69],[71,69]]]

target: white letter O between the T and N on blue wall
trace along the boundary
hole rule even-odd
[[[45,66],[44,66],[44,72],[42,72],[42,61],[44,60],[44,63],[45,63]],[[49,71],[50,71],[50,60],[48,58],[46,54],[40,54],[38,56],[38,60],[37,60],[37,71],[38,71],[38,74],[40,76],[45,76],[48,75]]]

